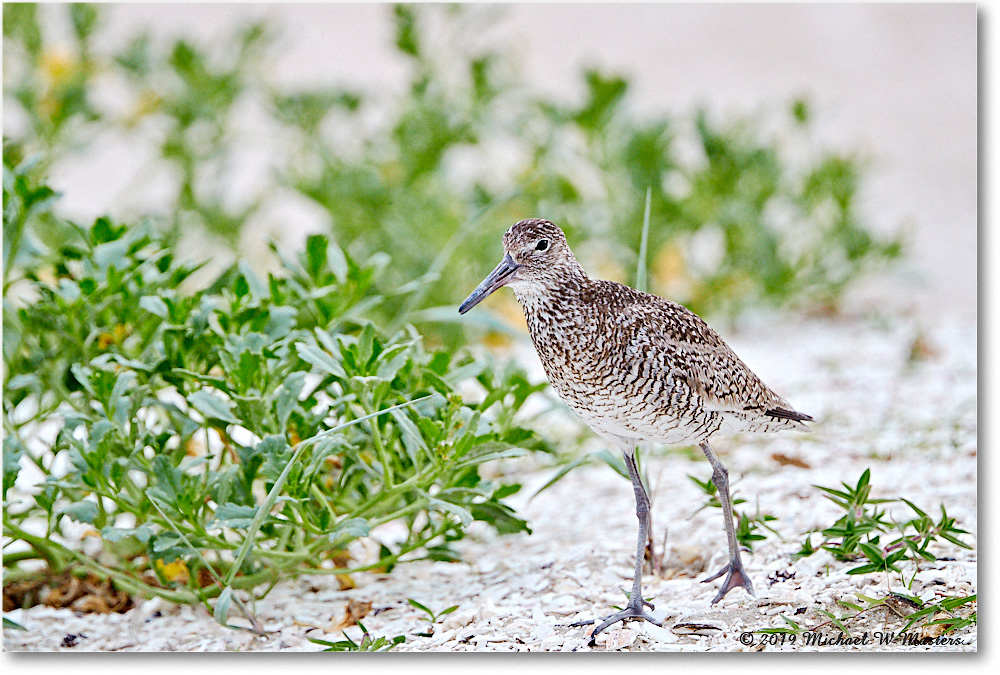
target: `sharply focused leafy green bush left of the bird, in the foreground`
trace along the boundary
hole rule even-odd
[[[22,223],[31,196],[50,195],[31,176],[5,165]],[[527,530],[503,501],[520,486],[479,467],[547,449],[513,419],[540,387],[428,349],[412,327],[376,328],[377,259],[312,236],[276,273],[237,262],[187,291],[196,267],[150,226],[63,226],[71,236],[30,255],[12,246],[5,268],[22,292],[4,301],[8,541],[134,592],[218,595],[225,623],[234,588],[349,571],[347,545],[390,521],[405,536],[367,567],[455,560],[474,520]],[[470,379],[479,404],[456,393]],[[13,490],[29,465],[36,484]],[[100,564],[62,543],[71,522],[100,535]]]

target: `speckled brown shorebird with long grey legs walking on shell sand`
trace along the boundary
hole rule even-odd
[[[639,539],[632,592],[624,610],[604,617],[594,629],[590,644],[618,621],[662,625],[646,613],[644,607],[654,607],[642,597],[650,502],[635,463],[640,442],[701,448],[712,465],[729,543],[729,562],[704,581],[725,575],[712,604],[738,586],[752,595],[736,539],[729,474],[709,438],[720,430],[804,429],[803,422],[812,418],[765,385],[694,312],[588,277],[563,231],[548,220],[514,224],[504,233],[503,250],[503,260],[461,304],[459,314],[510,286],[552,388],[587,426],[622,451],[635,492]]]

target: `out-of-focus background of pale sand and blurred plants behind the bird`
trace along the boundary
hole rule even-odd
[[[453,342],[522,217],[634,283],[648,190],[650,290],[696,311],[975,320],[974,5],[4,12],[5,154],[44,151],[59,216],[152,218],[210,270],[331,234]],[[516,323],[506,295],[466,325]]]

